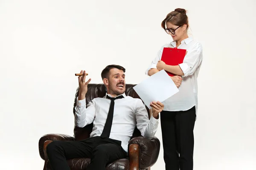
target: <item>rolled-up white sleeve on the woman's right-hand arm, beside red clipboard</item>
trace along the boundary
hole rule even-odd
[[[192,50],[186,54],[183,63],[179,64],[180,69],[183,71],[183,77],[194,74],[196,68],[201,64],[203,59],[203,47],[197,42]]]

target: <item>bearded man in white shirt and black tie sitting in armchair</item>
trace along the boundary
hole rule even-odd
[[[152,116],[141,99],[125,96],[125,68],[108,65],[102,71],[107,88],[103,98],[93,99],[86,108],[86,72],[80,72],[79,96],[75,108],[75,121],[79,127],[93,123],[90,138],[81,141],[53,141],[47,146],[47,156],[53,170],[70,170],[66,159],[90,158],[87,170],[105,170],[108,163],[126,158],[128,142],[135,126],[142,135],[152,139],[157,131],[161,102],[151,102]],[[114,110],[113,110],[114,109]]]

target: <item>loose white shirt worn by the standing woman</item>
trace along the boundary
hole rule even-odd
[[[157,54],[157,57],[151,62],[151,65],[145,71],[148,75],[148,71],[151,68],[157,68],[158,60],[161,60],[164,47],[176,47],[176,42],[172,41],[169,44],[163,45]],[[170,98],[166,99],[164,104],[164,111],[187,111],[195,106],[196,111],[198,108],[198,85],[197,77],[201,67],[203,59],[202,45],[193,40],[192,37],[186,38],[181,41],[181,44],[177,47],[186,49],[187,54],[184,57],[183,63],[179,64],[183,71],[182,82],[179,87],[179,92]]]

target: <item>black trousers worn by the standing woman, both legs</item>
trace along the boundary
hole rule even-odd
[[[195,106],[160,113],[166,170],[193,170]]]

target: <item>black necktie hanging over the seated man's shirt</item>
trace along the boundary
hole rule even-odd
[[[123,97],[124,97],[123,95],[120,95],[120,96],[117,96],[116,98],[112,98],[112,97],[107,95],[107,98],[111,99],[111,103],[110,103],[110,108],[109,108],[109,111],[108,111],[108,117],[107,117],[104,129],[102,131],[102,134],[100,136],[101,138],[109,138],[110,131],[111,131],[111,126],[112,126],[112,121],[113,121],[113,113],[114,113],[114,105],[115,105],[114,100],[115,99],[122,99]]]

